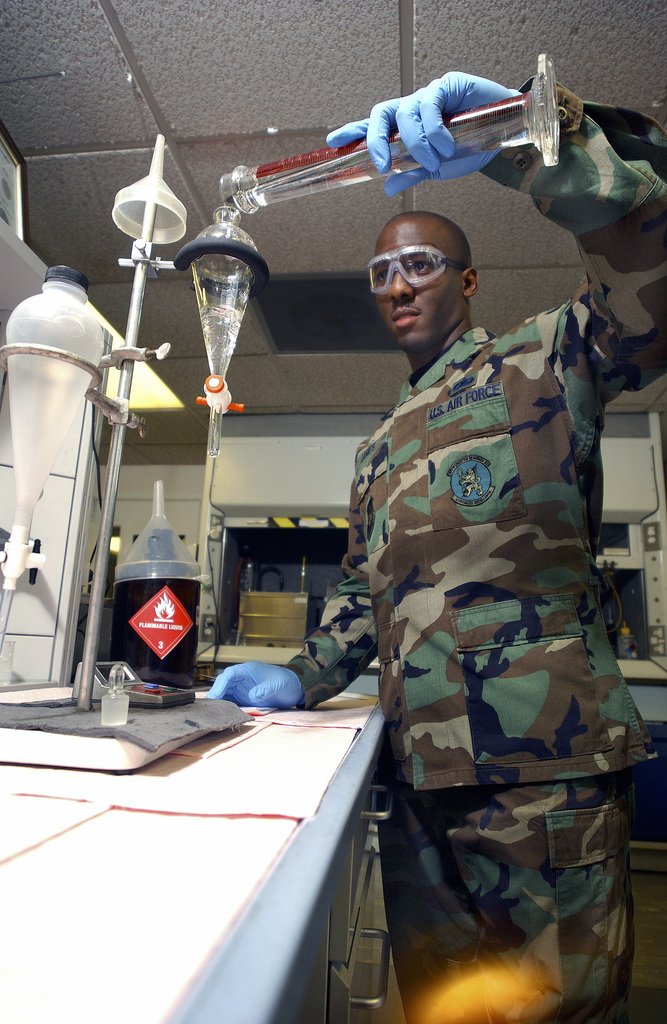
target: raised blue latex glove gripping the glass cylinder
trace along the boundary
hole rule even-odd
[[[376,103],[366,120],[350,121],[330,132],[327,143],[334,147],[347,145],[366,136],[373,163],[380,174],[388,174],[391,167],[389,132],[398,128],[403,144],[421,167],[387,178],[384,191],[394,196],[419,181],[444,181],[485,167],[497,151],[457,158],[456,144],[443,118],[516,95],[516,89],[506,89],[486,78],[449,72],[409,96]]]

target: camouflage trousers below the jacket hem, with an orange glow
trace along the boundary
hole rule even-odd
[[[631,769],[391,785],[380,851],[408,1024],[627,1022]]]

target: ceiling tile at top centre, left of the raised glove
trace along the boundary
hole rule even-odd
[[[181,136],[334,126],[400,89],[399,5],[384,0],[114,6]]]

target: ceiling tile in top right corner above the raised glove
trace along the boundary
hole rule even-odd
[[[553,59],[559,82],[586,99],[652,112],[665,103],[665,6],[661,0],[579,0],[500,5],[483,0],[417,0],[418,83],[465,71],[518,88],[537,55]],[[584,56],[592,26],[600,59]],[[641,69],[640,74],[637,70]]]

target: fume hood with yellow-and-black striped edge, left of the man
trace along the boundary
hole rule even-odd
[[[217,459],[208,460],[204,480],[199,560],[210,586],[202,595],[200,652],[235,642],[242,560],[254,566],[256,590],[305,590],[306,628],[318,625],[342,579],[349,485],[361,440],[223,439]]]

